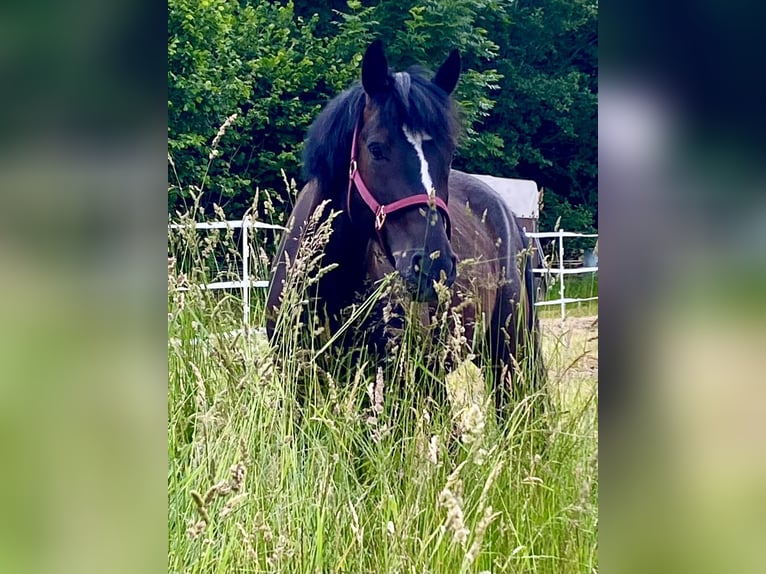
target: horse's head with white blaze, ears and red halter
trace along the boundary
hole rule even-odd
[[[418,301],[434,300],[434,283],[456,277],[447,204],[457,139],[450,94],[459,75],[457,50],[432,80],[416,69],[391,73],[379,40],[362,61],[346,209],[357,228],[377,235]]]

